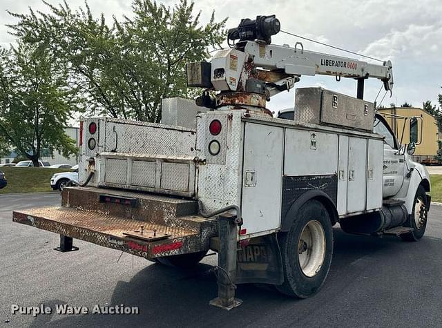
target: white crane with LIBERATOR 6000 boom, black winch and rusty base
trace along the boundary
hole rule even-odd
[[[358,81],[357,97],[363,99],[365,79],[383,81],[386,91],[393,88],[393,67],[383,64],[304,50],[300,42],[294,47],[271,44],[271,35],[280,31],[274,15],[242,19],[237,28],[229,30],[228,40],[239,41],[230,49],[219,50],[210,63],[187,65],[188,86],[219,91],[213,99],[206,91],[197,104],[210,108],[249,104],[265,108],[273,95],[290,90],[302,75],[332,75]]]

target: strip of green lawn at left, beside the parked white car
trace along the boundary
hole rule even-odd
[[[0,167],[8,185],[0,193],[38,193],[52,191],[50,177],[54,173],[69,171],[66,168]]]

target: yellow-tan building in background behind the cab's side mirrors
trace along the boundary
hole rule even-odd
[[[396,108],[383,108],[379,109],[378,113],[383,115],[388,124],[393,129],[394,134],[398,138],[401,144],[408,144],[410,142],[410,119],[400,117],[421,117],[422,124],[418,122],[419,133],[418,141],[421,144],[416,146],[416,152],[413,155],[413,159],[416,162],[429,162],[434,160],[438,151],[438,141],[441,137],[436,119],[425,110],[414,107],[396,107]],[[398,118],[393,118],[392,115],[398,115]]]

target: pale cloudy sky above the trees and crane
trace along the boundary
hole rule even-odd
[[[57,4],[60,1],[47,0]],[[71,8],[84,6],[82,0],[66,0]],[[176,1],[164,0],[166,6]],[[111,24],[113,15],[121,19],[131,17],[131,1],[88,0],[95,15],[104,13]],[[1,0],[0,2],[0,46],[8,46],[14,41],[8,35],[6,24],[15,23],[8,15],[11,12],[47,11],[41,1]],[[404,102],[421,107],[429,99],[436,104],[437,95],[442,92],[442,1],[441,0],[196,0],[195,11],[201,10],[201,22],[206,23],[212,10],[215,18],[229,17],[227,28],[238,26],[242,18],[256,18],[257,15],[276,15],[281,29],[297,35],[309,37],[323,43],[332,44],[354,52],[393,63],[394,89],[392,97],[383,100],[384,106],[390,103],[400,106]],[[272,38],[273,44],[289,44],[302,41],[306,50],[314,50],[345,57],[355,55],[339,52],[310,41],[279,33]],[[367,59],[363,59],[372,62]],[[316,75],[301,77],[295,87],[322,86],[338,93],[356,96],[356,81]],[[369,79],[365,83],[365,100],[373,102],[381,81]],[[381,91],[378,104],[385,91]],[[293,107],[294,90],[281,93],[271,99],[267,106],[278,111]]]

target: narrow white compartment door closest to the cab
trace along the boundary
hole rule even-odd
[[[368,140],[367,210],[382,207],[383,140]]]

